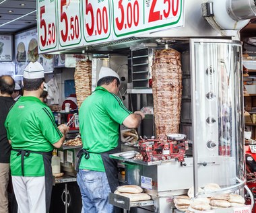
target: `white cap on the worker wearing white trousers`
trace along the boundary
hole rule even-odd
[[[44,68],[40,62],[30,62],[24,69],[23,77],[25,79],[40,79],[44,78]]]

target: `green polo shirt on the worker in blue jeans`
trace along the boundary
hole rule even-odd
[[[103,87],[96,87],[79,109],[79,128],[83,148],[90,153],[90,159],[82,157],[79,169],[105,171],[101,156],[117,147],[119,142],[119,126],[129,114],[117,95]]]

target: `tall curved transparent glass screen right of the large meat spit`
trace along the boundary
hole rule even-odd
[[[198,190],[205,179],[220,185],[216,191],[235,191],[245,185],[241,42],[190,45],[195,196],[207,194]]]

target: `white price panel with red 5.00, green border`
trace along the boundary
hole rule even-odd
[[[84,39],[86,42],[110,40],[110,1],[82,1]]]

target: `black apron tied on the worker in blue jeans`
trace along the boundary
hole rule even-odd
[[[117,189],[119,186],[119,180],[118,180],[118,169],[117,169],[117,161],[115,159],[111,159],[109,157],[110,154],[114,153],[120,153],[121,152],[121,142],[119,142],[118,146],[116,148],[113,148],[110,151],[104,152],[104,153],[95,153],[101,155],[103,165],[105,168],[106,177],[108,179],[108,184],[110,186],[110,190],[112,193]],[[79,165],[81,163],[81,159],[84,156],[85,159],[90,158],[90,153],[86,151],[85,149],[81,149],[79,153],[77,154],[78,161],[76,166],[76,171],[79,171]],[[114,206],[114,212],[115,213],[121,213],[121,208],[118,208],[117,206]]]

